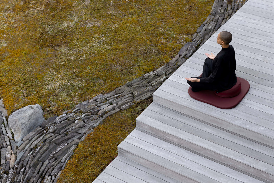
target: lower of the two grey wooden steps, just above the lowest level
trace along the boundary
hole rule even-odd
[[[262,183],[136,129],[118,146],[118,154],[179,182]]]

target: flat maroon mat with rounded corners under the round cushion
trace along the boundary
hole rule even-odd
[[[198,92],[193,92],[191,91],[191,87],[189,87],[189,95],[190,97],[199,100],[204,103],[208,103],[210,105],[213,105],[218,108],[222,109],[231,109],[233,107],[236,107],[241,100],[244,98],[244,96],[247,94],[249,91],[249,82],[243,78],[237,77],[241,81],[241,92],[239,95],[231,98],[223,98],[217,96],[214,91],[209,91],[209,90],[203,90],[203,91],[198,91]]]

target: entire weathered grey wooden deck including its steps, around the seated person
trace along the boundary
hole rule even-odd
[[[249,0],[153,94],[118,157],[94,183],[274,182],[274,3]],[[233,109],[188,95],[219,32],[232,33],[236,75],[250,90]]]

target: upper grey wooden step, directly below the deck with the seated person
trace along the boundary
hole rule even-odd
[[[262,181],[273,182],[273,150],[152,103],[136,129]]]

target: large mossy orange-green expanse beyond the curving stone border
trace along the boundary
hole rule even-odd
[[[0,95],[46,117],[162,66],[213,0],[0,2]]]

